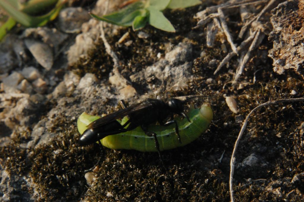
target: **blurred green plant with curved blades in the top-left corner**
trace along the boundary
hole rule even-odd
[[[10,16],[0,27],[0,40],[16,25],[16,22],[26,27],[45,25],[57,17],[65,2],[66,0],[0,0],[0,7]],[[50,7],[53,9],[41,15]]]

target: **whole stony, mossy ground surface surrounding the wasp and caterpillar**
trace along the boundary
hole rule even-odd
[[[110,2],[111,11],[122,1]],[[0,44],[1,201],[230,201],[230,158],[247,114],[303,95],[303,1],[166,10],[176,33],[105,23],[118,60],[88,15],[104,5],[63,9]],[[209,103],[214,119],[199,139],[161,152],[166,169],[157,153],[77,144],[82,112],[187,95],[206,95],[193,104]],[[303,110],[290,102],[251,116],[236,154],[235,201],[304,199]],[[85,170],[99,159],[88,183]]]

